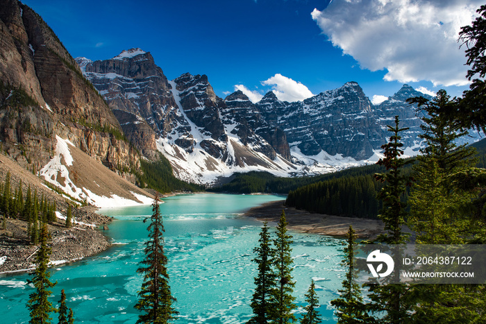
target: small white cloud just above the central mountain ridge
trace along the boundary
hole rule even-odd
[[[314,96],[308,87],[282,74],[275,74],[268,80],[262,81],[262,85],[271,85],[280,101],[303,101]]]

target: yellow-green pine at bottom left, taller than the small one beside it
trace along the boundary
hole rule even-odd
[[[57,283],[49,281],[51,277],[47,266],[51,255],[51,248],[47,246],[49,240],[49,230],[47,225],[44,224],[40,231],[40,247],[35,255],[35,271],[31,273],[32,279],[28,280],[28,283],[33,284],[35,287],[35,291],[31,293],[27,302],[27,308],[31,315],[30,323],[33,324],[51,323],[50,313],[56,312],[56,309],[49,301],[49,296],[51,296],[49,289]]]

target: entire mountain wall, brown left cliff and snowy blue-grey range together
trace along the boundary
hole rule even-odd
[[[410,128],[405,154],[419,148],[421,121],[405,99],[427,95],[408,85],[379,105],[355,82],[292,103],[274,92],[258,103],[241,91],[221,99],[208,76],[168,80],[142,49],[74,59],[31,8],[1,7],[2,151],[80,201],[137,201],[135,186],[114,191],[87,170],[135,184],[141,161],[164,157],[176,178],[206,186],[236,172],[308,176],[376,162],[395,115]]]

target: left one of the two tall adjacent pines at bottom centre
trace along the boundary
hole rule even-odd
[[[253,317],[248,323],[265,324],[269,323],[275,307],[272,293],[276,287],[276,275],[272,268],[275,250],[271,247],[271,239],[267,222],[263,223],[260,232],[260,245],[253,248],[256,257],[253,259],[258,265],[258,275],[255,277],[255,292],[251,299]]]

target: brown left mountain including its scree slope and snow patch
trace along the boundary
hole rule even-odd
[[[2,153],[63,197],[137,201],[140,153],[103,96],[37,13],[17,0],[0,0],[0,8]]]

